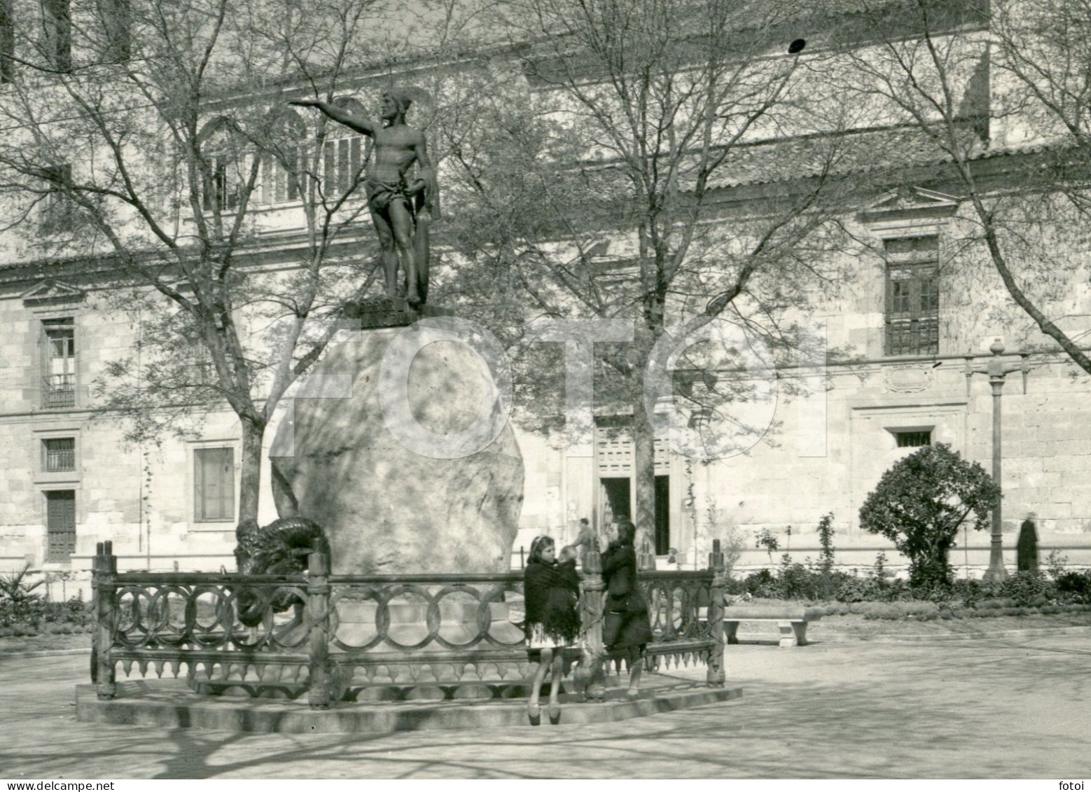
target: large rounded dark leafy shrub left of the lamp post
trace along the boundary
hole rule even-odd
[[[860,509],[860,525],[892,541],[910,560],[911,585],[947,585],[947,556],[959,528],[972,514],[973,528],[983,530],[999,500],[999,488],[981,465],[937,443],[883,473]]]

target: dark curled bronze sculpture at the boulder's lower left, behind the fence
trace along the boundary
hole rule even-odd
[[[264,528],[256,520],[244,520],[235,531],[238,545],[235,560],[244,575],[298,575],[307,571],[307,556],[329,553],[329,543],[317,523],[305,517],[281,517]],[[242,587],[236,597],[239,621],[248,627],[261,624],[272,608],[283,612],[300,607],[299,597],[288,591]]]

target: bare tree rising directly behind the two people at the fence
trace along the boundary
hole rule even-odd
[[[596,345],[596,401],[632,411],[642,531],[655,515],[644,384],[658,343],[722,319],[795,347],[807,285],[835,280],[823,252],[850,119],[820,100],[815,62],[788,53],[789,13],[734,0],[505,3],[519,70],[479,74],[440,111],[463,260],[451,299],[487,309],[512,346],[533,337],[528,315],[633,322],[631,343]],[[704,368],[731,368],[736,351]],[[517,358],[528,377],[541,355]],[[547,411],[560,412],[553,396]]]

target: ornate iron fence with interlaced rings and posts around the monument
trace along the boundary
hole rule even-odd
[[[650,667],[704,662],[723,685],[723,574],[719,547],[705,572],[642,573],[655,641]],[[331,700],[421,695],[508,696],[530,670],[523,636],[523,574],[331,575],[310,556],[305,575],[118,573],[110,542],[94,564],[96,629],[92,675],[99,698],[129,675],[173,676],[195,689],[307,694]],[[603,658],[603,585],[589,552],[580,598],[583,637],[566,650],[586,674]],[[268,603],[260,624],[237,617],[239,593]],[[466,688],[477,688],[471,694]]]

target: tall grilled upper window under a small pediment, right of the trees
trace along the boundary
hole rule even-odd
[[[886,353],[939,351],[939,238],[888,239]]]

